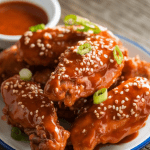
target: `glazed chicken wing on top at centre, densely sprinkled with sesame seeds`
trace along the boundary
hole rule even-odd
[[[92,50],[80,55],[77,49],[84,43],[90,43]],[[114,59],[116,45],[124,57],[127,56],[127,50],[120,40],[104,30],[68,48],[61,54],[58,66],[46,83],[45,94],[49,99],[62,101],[70,107],[79,98],[88,97],[100,88],[109,88],[124,67],[124,60],[117,64]]]

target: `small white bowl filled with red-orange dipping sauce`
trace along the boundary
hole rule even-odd
[[[31,26],[55,26],[60,15],[57,0],[0,0],[0,48],[13,45]]]

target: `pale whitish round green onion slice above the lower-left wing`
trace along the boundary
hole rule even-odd
[[[20,79],[23,81],[29,81],[32,78],[32,72],[27,68],[21,69],[19,75],[20,75]]]

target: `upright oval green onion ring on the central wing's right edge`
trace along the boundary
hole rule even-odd
[[[117,52],[119,54],[118,56],[117,56]],[[114,58],[116,59],[117,63],[121,64],[122,60],[123,60],[123,55],[122,55],[122,52],[121,52],[118,45],[115,46],[114,51],[113,51],[113,55],[114,55]]]

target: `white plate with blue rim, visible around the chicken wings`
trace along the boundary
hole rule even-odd
[[[150,60],[150,51],[147,51],[142,46],[138,45],[125,37],[117,35],[124,46],[129,50],[129,56],[134,57],[139,55],[142,60]],[[0,116],[2,116],[2,108],[4,107],[3,99],[0,95]],[[6,124],[6,122],[0,120],[0,144],[3,145],[8,150],[31,150],[29,143],[18,142],[11,138],[11,127]],[[139,131],[139,135],[136,139],[129,143],[121,145],[109,145],[102,147],[100,150],[140,150],[146,144],[150,142],[150,117],[148,118],[145,127]],[[8,146],[9,145],[9,146]]]

